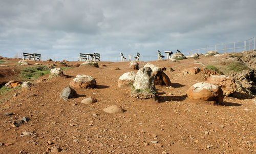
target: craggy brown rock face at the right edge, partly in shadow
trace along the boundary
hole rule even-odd
[[[240,73],[234,73],[237,91],[256,95],[256,72],[254,70],[243,70]]]

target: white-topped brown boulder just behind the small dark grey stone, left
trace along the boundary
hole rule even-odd
[[[70,86],[79,88],[95,87],[96,80],[90,75],[77,75],[76,78],[71,80]]]

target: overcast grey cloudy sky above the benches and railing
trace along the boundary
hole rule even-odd
[[[157,55],[256,36],[255,0],[1,0],[0,56]]]

